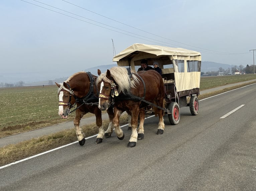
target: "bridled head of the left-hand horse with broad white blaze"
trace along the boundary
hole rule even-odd
[[[76,100],[72,96],[74,93],[66,82],[63,84],[57,84],[58,89],[58,97],[59,97],[59,111],[58,114],[63,118],[67,119],[70,109],[75,104]]]

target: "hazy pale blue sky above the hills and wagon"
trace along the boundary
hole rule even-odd
[[[134,43],[252,65],[255,19],[255,0],[1,0],[0,73],[73,74],[114,64],[115,52]]]

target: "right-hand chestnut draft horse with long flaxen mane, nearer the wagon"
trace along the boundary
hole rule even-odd
[[[101,110],[106,110],[110,106],[114,107],[113,126],[120,140],[124,138],[124,132],[119,125],[120,115],[124,111],[131,114],[132,134],[127,146],[136,146],[137,139],[144,137],[145,113],[141,108],[152,103],[164,109],[165,95],[161,75],[154,70],[136,73],[123,67],[112,67],[106,73],[98,70],[98,75],[96,80],[100,89],[98,107]],[[157,107],[154,109],[155,115],[159,116],[157,134],[162,134],[164,131],[163,110]],[[137,132],[138,115],[140,125]]]

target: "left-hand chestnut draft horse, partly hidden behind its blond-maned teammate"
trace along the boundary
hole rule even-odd
[[[88,112],[94,113],[96,116],[96,125],[99,128],[99,134],[96,138],[95,143],[101,143],[104,138],[104,129],[102,127],[101,110],[98,108],[98,95],[95,81],[96,76],[92,75],[90,72],[78,72],[69,77],[68,80],[61,84],[55,84],[59,87],[58,97],[59,97],[59,111],[58,114],[63,118],[67,119],[68,114],[76,111],[76,116],[74,119],[74,125],[76,128],[76,134],[80,145],[85,144],[85,135],[80,128],[81,118]],[[71,111],[72,107],[77,107]],[[109,114],[109,127],[112,127],[113,110],[107,111]]]

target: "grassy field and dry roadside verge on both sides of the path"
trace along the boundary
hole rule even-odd
[[[200,90],[206,90],[234,84],[237,82],[245,82],[255,80],[256,75],[231,75],[231,76],[214,76],[201,78]],[[199,95],[199,99],[212,95],[217,95],[239,88],[241,86],[220,90],[207,95]],[[0,89],[0,105],[1,124],[0,137],[26,132],[33,129],[54,125],[66,121],[72,121],[75,113],[72,113],[67,119],[61,119],[58,115],[58,96],[57,87],[41,86],[19,87],[19,88],[1,88]],[[84,117],[91,116],[87,114]],[[126,124],[128,117],[121,118],[121,124]],[[98,129],[94,124],[83,126],[86,137],[98,133]],[[108,120],[103,121],[104,129],[108,126]],[[58,146],[68,144],[77,140],[74,129],[63,130],[48,136],[41,136],[31,140],[23,141],[17,144],[10,144],[0,148],[0,166],[11,162],[38,154],[43,151],[56,148]]]

